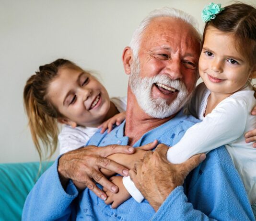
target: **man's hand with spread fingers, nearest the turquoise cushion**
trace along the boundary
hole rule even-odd
[[[128,176],[126,167],[105,158],[116,153],[132,154],[134,148],[121,145],[86,146],[62,155],[58,161],[58,173],[62,186],[65,188],[68,180],[72,179],[77,188],[84,189],[87,187],[98,197],[105,200],[105,192],[99,189],[93,180],[114,193],[118,191],[118,188],[107,180],[100,172],[100,168],[111,170],[122,176]]]

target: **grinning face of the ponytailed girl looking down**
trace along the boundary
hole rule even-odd
[[[97,127],[110,108],[104,86],[89,73],[78,69],[60,68],[48,87],[47,96],[65,116],[58,121],[72,127]]]

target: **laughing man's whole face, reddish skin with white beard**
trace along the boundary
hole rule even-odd
[[[129,86],[151,117],[169,117],[190,98],[200,53],[195,36],[192,26],[173,18],[154,19],[142,35]]]

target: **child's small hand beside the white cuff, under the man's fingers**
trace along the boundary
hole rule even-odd
[[[107,199],[105,200],[105,204],[111,204],[112,209],[116,209],[119,205],[125,202],[127,199],[131,197],[131,195],[126,190],[125,186],[123,185],[123,177],[116,176],[111,177],[109,179],[118,187],[119,191],[117,193],[112,193],[109,190],[103,188],[106,192]]]

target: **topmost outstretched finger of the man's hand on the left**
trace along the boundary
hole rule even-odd
[[[122,146],[122,145],[108,145],[105,147],[98,148],[99,150],[99,155],[101,157],[107,157],[112,154],[133,154],[134,153],[134,148],[132,146]]]

